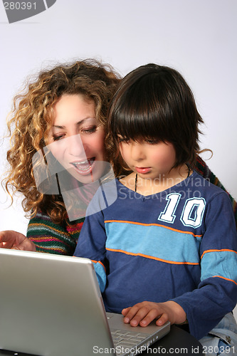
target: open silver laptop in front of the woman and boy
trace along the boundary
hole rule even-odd
[[[169,333],[106,314],[88,258],[0,248],[0,266],[0,349],[12,355],[134,356]]]

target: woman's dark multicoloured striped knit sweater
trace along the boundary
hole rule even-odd
[[[200,157],[197,157],[196,160],[196,171],[202,177],[209,179],[212,184],[226,191],[215,174],[211,172]],[[229,197],[233,206],[237,226],[237,203],[230,194]],[[36,216],[29,221],[26,236],[33,241],[36,245],[36,251],[38,252],[72,256],[84,219],[85,218],[73,221],[73,223],[65,221],[64,224],[55,224],[49,216],[38,212]]]

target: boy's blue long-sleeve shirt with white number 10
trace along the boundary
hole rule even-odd
[[[111,182],[95,194],[75,256],[95,263],[107,311],[174,300],[200,339],[236,305],[237,234],[228,195],[196,172],[148,197],[116,185],[107,208]]]

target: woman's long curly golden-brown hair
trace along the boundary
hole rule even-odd
[[[53,122],[53,106],[63,94],[82,94],[93,100],[96,117],[105,126],[107,109],[119,83],[120,75],[110,65],[87,59],[43,70],[28,85],[26,93],[16,95],[11,118],[7,122],[11,148],[6,157],[10,169],[4,179],[11,204],[13,195],[20,192],[24,196],[23,210],[30,212],[31,217],[40,210],[57,224],[67,218],[60,195],[38,192],[32,157],[46,146]]]

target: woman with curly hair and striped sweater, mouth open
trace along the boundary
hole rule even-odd
[[[84,221],[87,197],[93,195],[91,189],[88,192],[85,186],[82,187],[76,182],[84,179],[81,174],[83,169],[88,170],[88,177],[92,182],[90,169],[93,169],[93,164],[106,160],[104,130],[107,109],[119,83],[120,76],[110,66],[95,60],[75,61],[44,70],[36,81],[28,85],[25,94],[14,99],[13,117],[8,122],[11,149],[7,152],[10,169],[5,186],[7,192],[10,192],[11,187],[14,192],[23,194],[23,209],[26,213],[30,212],[31,219],[27,237],[16,231],[1,231],[1,247],[73,255]],[[78,125],[84,118],[91,120],[85,120],[83,124]],[[69,142],[70,140],[73,142]],[[75,151],[68,152],[68,155],[76,159],[64,160],[64,151],[60,150],[61,142],[69,142],[68,147],[73,147]],[[82,146],[83,158],[80,157],[78,161]],[[64,170],[65,174],[60,179],[64,179],[67,184],[70,182],[73,188],[76,186],[77,191],[79,184],[80,197],[84,189],[83,199],[79,199],[80,204],[85,202],[80,219],[73,220],[68,217],[71,200],[66,200],[66,209],[64,192],[60,191],[60,187],[58,189],[53,186],[52,189],[52,186],[46,184],[42,189],[41,184],[37,184],[37,164],[34,167],[32,164],[37,152],[43,152],[43,159],[48,159],[51,155],[51,158],[54,157],[68,169],[67,172]],[[55,162],[54,160],[53,163]],[[74,165],[71,162],[74,162]],[[80,164],[80,169],[78,162],[84,162]],[[56,170],[59,171],[60,167]],[[223,188],[200,157],[196,159],[196,170],[211,183]],[[103,173],[103,169],[99,169],[97,177],[94,178],[98,179]],[[46,177],[51,177],[47,174]],[[70,176],[75,179],[70,179]],[[56,174],[53,177],[58,183]],[[237,216],[236,201],[230,198]],[[78,199],[74,199],[73,204],[76,200]]]

